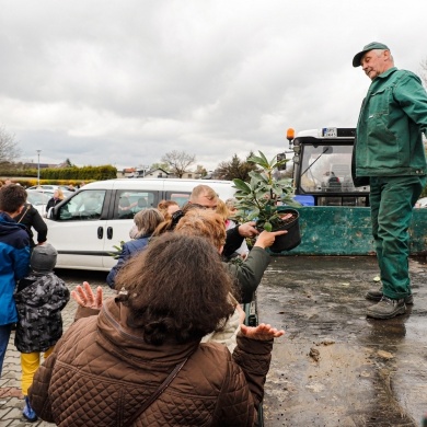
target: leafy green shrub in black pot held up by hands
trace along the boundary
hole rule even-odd
[[[247,159],[256,164],[256,171],[250,172],[251,181],[245,183],[234,178],[236,188],[236,207],[240,215],[247,221],[256,221],[259,230],[278,231],[287,230],[288,233],[276,238],[270,246],[272,252],[290,251],[301,243],[299,229],[299,212],[289,206],[301,206],[292,199],[293,188],[291,178],[274,177],[276,170],[280,169],[288,159],[277,160],[276,157],[268,161],[262,151],[259,155]],[[286,206],[281,206],[281,205]]]

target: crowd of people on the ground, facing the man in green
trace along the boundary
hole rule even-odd
[[[231,222],[227,204],[198,185],[182,208],[161,200],[137,212],[132,238],[107,276],[115,297],[103,301],[101,287],[95,293],[88,282],[77,287],[76,322],[62,334],[70,291],[54,273],[57,252],[47,229],[31,243],[25,189],[0,189],[1,276],[8,278],[0,289],[0,367],[15,325],[26,420],[254,425],[273,341],[285,332],[245,326],[242,303],[268,266],[266,249],[286,231],[259,233],[255,222]],[[255,236],[251,250],[236,252]],[[108,408],[96,404],[117,393],[126,399]]]

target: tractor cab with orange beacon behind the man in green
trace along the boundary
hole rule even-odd
[[[288,130],[297,200],[311,200],[314,206],[369,206],[369,186],[355,187],[351,178],[355,132],[330,127],[293,137],[293,129]]]

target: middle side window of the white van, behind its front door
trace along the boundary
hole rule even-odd
[[[115,203],[115,218],[132,219],[135,214],[142,209],[157,208],[157,192],[117,192]]]

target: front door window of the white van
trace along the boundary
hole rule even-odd
[[[88,189],[78,193],[60,207],[59,220],[81,221],[100,219],[105,193],[105,189]]]

